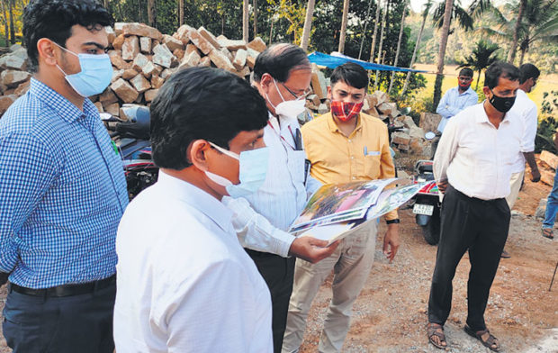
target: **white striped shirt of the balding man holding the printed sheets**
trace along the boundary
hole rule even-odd
[[[296,150],[294,144],[297,129],[300,125],[296,119],[282,120],[279,125],[270,113],[264,128],[264,142],[269,148],[266,182],[252,195],[223,197],[223,204],[234,213],[232,223],[238,239],[248,249],[286,257],[295,239],[286,231],[302,212],[308,195],[321,186],[305,175],[306,153]]]

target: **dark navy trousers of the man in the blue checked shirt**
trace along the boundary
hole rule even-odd
[[[112,353],[116,283],[94,293],[45,297],[8,293],[2,330],[14,353]]]

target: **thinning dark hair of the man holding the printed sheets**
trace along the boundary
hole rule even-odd
[[[269,74],[279,82],[286,82],[291,71],[299,68],[311,69],[306,52],[291,43],[278,43],[257,56],[254,64],[254,80],[259,82],[264,74]]]

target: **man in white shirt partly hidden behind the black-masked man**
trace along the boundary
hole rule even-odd
[[[511,107],[511,112],[517,113],[521,117],[523,123],[523,139],[521,140],[521,149],[518,157],[513,165],[511,179],[509,181],[510,193],[506,197],[509,209],[511,210],[516,204],[519,195],[519,189],[523,184],[525,176],[525,161],[531,168],[531,181],[538,182],[541,179],[541,173],[536,166],[535,160],[535,137],[538,125],[536,104],[527,96],[531,93],[536,85],[536,80],[541,72],[533,64],[523,64],[519,67],[521,77],[519,77],[518,96],[516,103]],[[508,251],[502,251],[502,258],[510,258]]]

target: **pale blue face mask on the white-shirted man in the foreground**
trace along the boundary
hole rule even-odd
[[[253,194],[264,184],[267,175],[267,160],[269,158],[269,149],[267,147],[245,150],[238,155],[229,151],[229,149],[220,148],[212,142],[210,144],[221,153],[230,158],[237,159],[240,164],[238,172],[239,184],[232,184],[229,179],[223,176],[218,176],[209,170],[205,171],[205,175],[214,183],[225,186],[230,197],[237,198]]]

